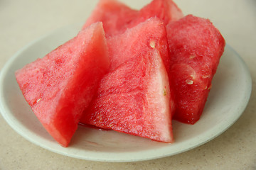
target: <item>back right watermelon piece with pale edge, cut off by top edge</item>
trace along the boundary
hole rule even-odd
[[[183,13],[172,0],[153,0],[139,11],[139,16],[129,24],[129,28],[151,17],[158,17],[167,25],[171,21],[182,18]]]

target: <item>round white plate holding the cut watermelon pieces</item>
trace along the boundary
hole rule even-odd
[[[24,100],[14,72],[73,38],[80,28],[80,25],[62,28],[32,42],[14,55],[1,70],[1,114],[18,134],[45,149],[68,157],[101,162],[134,162],[167,157],[203,145],[220,135],[238,120],[249,101],[252,89],[250,72],[245,62],[227,45],[201,120],[195,125],[173,121],[174,144],[79,126],[70,146],[60,147]]]

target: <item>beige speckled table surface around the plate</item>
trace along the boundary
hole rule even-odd
[[[134,8],[149,2],[127,0]],[[85,21],[94,0],[0,0],[0,69],[29,42],[66,25]],[[256,169],[256,1],[176,0],[185,14],[210,18],[245,60],[252,96],[240,119],[214,140],[172,157],[106,163],[65,157],[18,135],[0,116],[0,169]]]

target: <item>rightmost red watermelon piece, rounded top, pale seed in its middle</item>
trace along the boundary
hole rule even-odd
[[[203,112],[225,40],[209,20],[192,15],[169,23],[166,30],[176,95],[174,119],[194,124]]]

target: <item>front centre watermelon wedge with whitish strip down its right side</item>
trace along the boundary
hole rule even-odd
[[[169,98],[168,75],[153,49],[106,74],[80,122],[173,142]]]

